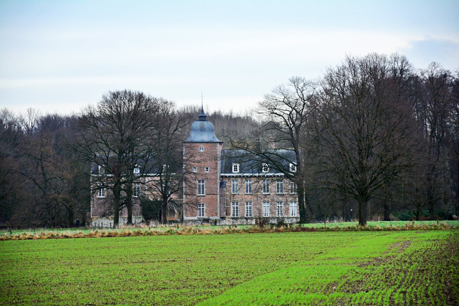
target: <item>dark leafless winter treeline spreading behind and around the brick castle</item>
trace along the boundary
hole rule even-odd
[[[92,183],[119,195],[109,212],[132,208],[135,178],[124,173],[140,164],[161,172],[154,194],[167,210],[182,185],[181,142],[200,111],[129,90],[73,115],[2,109],[0,223],[84,220],[97,192],[92,163],[110,174]],[[268,159],[297,183],[302,221],[352,216],[364,225],[401,212],[447,218],[459,208],[459,74],[437,63],[417,69],[397,54],[347,56],[318,79],[276,86],[252,113],[207,115],[226,148]],[[296,167],[278,165],[269,142],[295,150]]]

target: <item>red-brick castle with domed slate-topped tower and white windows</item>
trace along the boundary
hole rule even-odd
[[[168,220],[189,225],[254,224],[260,218],[270,223],[280,220],[296,223],[299,220],[296,184],[278,171],[281,166],[295,172],[295,154],[293,150],[274,146],[268,152],[278,159],[277,170],[248,151],[224,150],[223,142],[215,136],[215,128],[202,110],[183,143],[183,190],[171,203]],[[105,226],[110,218],[97,215],[101,211],[97,200],[100,195],[99,190],[91,200],[91,224],[102,222]],[[137,202],[133,211],[133,220],[140,222],[143,218]],[[126,212],[121,211],[120,223],[125,220]]]

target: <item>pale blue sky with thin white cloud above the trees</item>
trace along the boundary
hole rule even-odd
[[[459,1],[0,1],[0,108],[78,112],[140,90],[243,112],[346,54],[459,68]]]

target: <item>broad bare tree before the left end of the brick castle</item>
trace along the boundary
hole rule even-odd
[[[153,132],[156,111],[156,98],[122,90],[103,95],[96,106],[85,107],[80,118],[80,139],[75,149],[85,161],[100,166],[102,175],[92,178],[94,183],[100,182],[112,191],[114,227],[119,222],[123,185],[132,184],[130,174],[137,161],[144,161],[140,176],[150,172],[146,166],[151,156],[144,139]],[[97,191],[96,185],[92,186],[93,192]],[[132,223],[132,214],[130,218]]]

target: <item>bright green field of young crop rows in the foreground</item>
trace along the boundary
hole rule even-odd
[[[457,305],[459,233],[0,241],[6,305]]]

